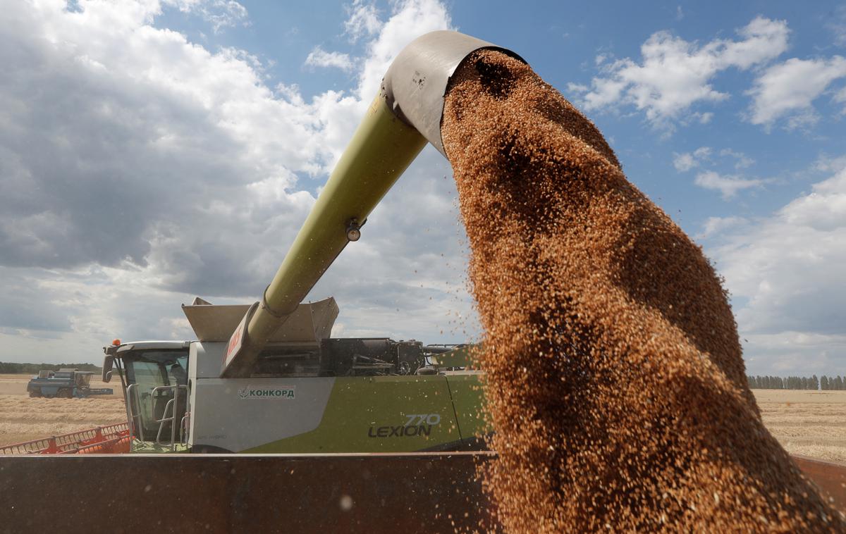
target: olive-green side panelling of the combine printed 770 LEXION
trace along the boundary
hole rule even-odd
[[[449,384],[448,384],[449,381]],[[453,406],[459,391],[459,432]],[[247,453],[409,452],[459,448],[481,423],[478,375],[350,377],[336,381],[320,425]],[[471,406],[475,403],[475,406]],[[467,430],[464,430],[467,428]]]

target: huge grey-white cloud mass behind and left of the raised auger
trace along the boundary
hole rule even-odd
[[[261,295],[387,63],[416,35],[449,25],[434,0],[393,4],[365,44],[358,86],[306,101],[294,83],[267,87],[249,53],[211,52],[157,27],[163,5],[172,4],[4,7],[0,359],[96,360],[115,336],[190,336],[179,302],[194,294]],[[314,292],[338,297],[350,335],[462,341],[462,324],[448,337],[450,309],[474,328],[448,164],[434,150],[420,160]],[[432,225],[431,214],[446,223]],[[418,239],[399,237],[412,229]],[[61,313],[30,313],[43,308]],[[27,352],[35,347],[47,354]]]

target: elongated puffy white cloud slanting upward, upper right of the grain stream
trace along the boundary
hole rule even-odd
[[[728,98],[711,86],[717,73],[761,65],[787,50],[783,20],[757,17],[738,35],[738,41],[716,39],[700,46],[668,31],[656,32],[640,47],[640,63],[628,57],[603,62],[602,75],[583,92],[582,104],[588,111],[634,106],[656,128],[673,128],[691,106]]]

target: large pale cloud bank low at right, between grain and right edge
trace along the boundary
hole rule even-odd
[[[709,253],[740,302],[750,371],[819,374],[846,365],[846,170],[772,216],[728,226],[715,242]]]

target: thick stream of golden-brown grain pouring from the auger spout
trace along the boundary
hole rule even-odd
[[[711,265],[590,121],[481,51],[453,76],[442,138],[508,531],[844,528],[761,423]]]

